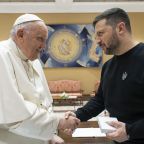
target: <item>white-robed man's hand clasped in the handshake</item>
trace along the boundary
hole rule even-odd
[[[66,118],[61,118],[58,124],[59,130],[71,129],[74,131],[79,125],[80,120],[74,116],[69,116]]]

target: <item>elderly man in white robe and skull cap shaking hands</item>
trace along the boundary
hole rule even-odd
[[[55,142],[58,129],[74,130],[75,117],[52,112],[52,97],[37,59],[48,36],[44,21],[33,14],[16,19],[8,40],[0,42],[0,144]]]

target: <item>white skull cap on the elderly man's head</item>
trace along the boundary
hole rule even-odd
[[[23,14],[16,19],[13,26],[32,21],[43,21],[43,20],[34,14]]]

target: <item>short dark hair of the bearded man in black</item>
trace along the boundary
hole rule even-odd
[[[128,14],[121,8],[111,8],[100,15],[98,15],[94,21],[93,26],[95,27],[96,23],[99,22],[102,19],[106,19],[106,24],[109,24],[113,27],[116,26],[119,22],[124,22],[126,25],[127,30],[131,33],[131,25],[130,25],[130,19]]]

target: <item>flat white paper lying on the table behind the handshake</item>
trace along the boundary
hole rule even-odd
[[[77,128],[72,137],[105,137],[100,128]]]

